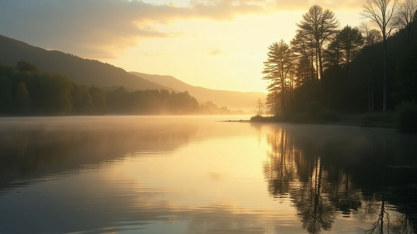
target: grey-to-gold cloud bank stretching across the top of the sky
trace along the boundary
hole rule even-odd
[[[0,34],[83,57],[108,58],[141,39],[184,34],[160,32],[153,27],[158,24],[195,18],[226,21],[309,4],[309,0],[191,0],[178,7],[139,0],[0,1]]]

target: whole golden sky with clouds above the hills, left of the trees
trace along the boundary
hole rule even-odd
[[[0,34],[195,86],[266,92],[261,71],[267,47],[280,39],[289,42],[309,6],[329,8],[341,25],[356,26],[363,2],[2,1]]]

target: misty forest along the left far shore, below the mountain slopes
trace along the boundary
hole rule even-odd
[[[62,74],[40,73],[33,64],[0,65],[1,116],[103,114],[230,114],[226,107],[199,105],[187,91],[166,89],[127,91],[123,86],[103,91],[75,84]]]

